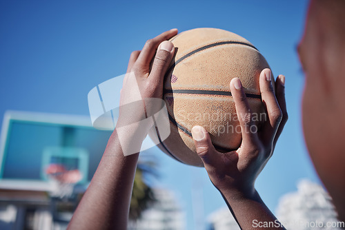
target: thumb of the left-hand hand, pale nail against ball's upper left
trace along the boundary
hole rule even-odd
[[[152,63],[150,78],[163,81],[174,52],[175,48],[171,41],[163,41],[159,44],[155,59]]]

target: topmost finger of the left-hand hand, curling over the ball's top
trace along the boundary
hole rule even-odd
[[[138,67],[143,70],[144,72],[148,72],[150,68],[150,62],[155,56],[156,50],[158,48],[158,45],[162,41],[166,41],[172,36],[175,36],[177,34],[177,29],[168,30],[162,34],[159,34],[154,39],[150,39],[146,41],[143,50],[141,50],[141,53],[137,59],[137,65]]]

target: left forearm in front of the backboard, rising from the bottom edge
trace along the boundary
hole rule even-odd
[[[126,229],[138,157],[124,156],[115,129],[68,229]]]

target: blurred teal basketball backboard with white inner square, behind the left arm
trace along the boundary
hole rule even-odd
[[[86,187],[111,131],[92,127],[88,116],[6,112],[0,139],[0,189],[48,191],[46,167],[62,164],[83,175]]]

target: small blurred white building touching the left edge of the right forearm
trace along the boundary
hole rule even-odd
[[[223,207],[211,213],[208,216],[208,222],[210,223],[210,230],[241,230],[228,207]]]

